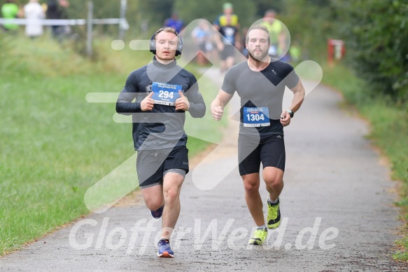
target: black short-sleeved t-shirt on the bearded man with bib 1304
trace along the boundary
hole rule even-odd
[[[267,109],[265,116],[269,118],[269,125],[255,127],[260,135],[283,135],[283,125],[279,120],[283,93],[286,86],[294,88],[297,85],[299,76],[287,62],[272,60],[273,62],[260,72],[251,70],[248,62],[244,61],[228,69],[225,74],[221,89],[231,95],[237,91],[241,97],[240,134],[244,134],[246,130],[253,130],[253,127],[248,128],[244,125],[244,118],[248,114],[244,113],[244,108],[263,108]]]

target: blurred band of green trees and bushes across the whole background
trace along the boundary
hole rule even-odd
[[[213,22],[226,1],[234,5],[242,27],[262,18],[267,9],[275,9],[306,58],[323,59],[328,39],[344,39],[347,57],[358,76],[370,83],[371,96],[408,100],[408,0],[128,0],[127,36],[150,37],[173,11],[185,24],[198,18]],[[47,0],[40,2],[45,4]],[[86,18],[87,1],[69,2],[69,18]],[[22,7],[27,0],[16,3]],[[94,18],[118,18],[120,0],[93,3]],[[85,27],[74,27],[73,31],[81,41],[85,38]],[[95,26],[94,33],[116,35],[118,26]]]

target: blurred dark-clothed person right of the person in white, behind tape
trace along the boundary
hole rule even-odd
[[[69,1],[67,0],[48,0],[47,12],[45,13],[47,19],[61,20],[68,19],[66,9],[69,7]],[[51,26],[52,37],[58,41],[62,41],[64,34],[68,32],[64,25],[52,25]]]

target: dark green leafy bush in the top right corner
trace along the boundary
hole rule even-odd
[[[338,3],[346,21],[351,63],[358,76],[370,83],[372,96],[385,94],[398,102],[408,100],[408,1],[372,0]]]

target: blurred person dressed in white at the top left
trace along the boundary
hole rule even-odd
[[[29,3],[24,6],[24,16],[27,18],[25,34],[31,39],[41,36],[43,34],[41,19],[45,18],[45,13],[38,0],[29,0]]]

